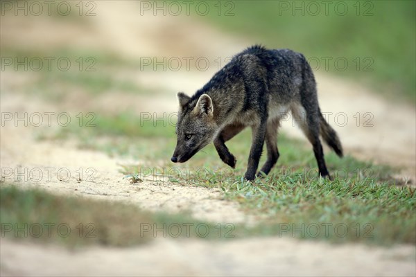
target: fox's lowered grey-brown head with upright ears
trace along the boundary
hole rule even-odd
[[[207,94],[202,94],[197,101],[180,92],[177,99],[177,143],[171,161],[184,163],[213,141],[218,126],[214,121],[212,100]]]

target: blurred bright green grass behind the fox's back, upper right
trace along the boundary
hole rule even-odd
[[[416,100],[415,1],[331,1],[327,10],[324,1],[232,3],[223,2],[221,16],[212,3],[211,12],[198,19],[253,44],[293,48],[315,66],[318,59],[320,71],[326,71],[323,57],[330,57],[330,72],[371,84],[395,98]],[[320,12],[315,12],[316,3]],[[335,9],[339,3],[347,6],[345,15],[341,9],[344,5],[338,6],[339,11]],[[295,9],[302,5],[304,8]],[[225,16],[229,8],[234,15]],[[338,57],[347,60],[345,71],[342,63],[334,63]]]

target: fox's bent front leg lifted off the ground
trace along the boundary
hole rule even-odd
[[[227,146],[225,145],[225,141],[232,139],[244,128],[244,125],[227,125],[216,137],[216,139],[214,139],[214,146],[220,156],[220,159],[232,168],[235,168],[236,166],[236,158],[229,152]]]

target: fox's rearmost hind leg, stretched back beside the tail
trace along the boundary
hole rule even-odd
[[[295,105],[295,107],[292,107],[291,110],[293,118],[295,118],[306,138],[308,138],[309,142],[311,142],[313,146],[313,153],[315,154],[315,159],[318,163],[320,176],[331,179],[327,170],[327,165],[325,164],[324,151],[322,150],[322,144],[319,138],[319,109],[314,109],[314,106],[318,107],[318,105]],[[306,110],[305,107],[308,109]]]

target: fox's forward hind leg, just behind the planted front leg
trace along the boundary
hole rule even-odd
[[[273,166],[279,159],[279,150],[277,149],[277,129],[279,128],[279,120],[272,120],[267,123],[266,129],[266,148],[267,148],[267,161],[261,168],[257,176],[261,177],[263,173],[268,175]]]

